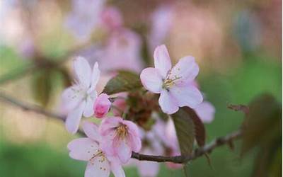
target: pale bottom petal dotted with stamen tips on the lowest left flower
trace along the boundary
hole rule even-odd
[[[88,162],[85,177],[108,177],[110,175],[110,164],[105,156],[97,156]]]

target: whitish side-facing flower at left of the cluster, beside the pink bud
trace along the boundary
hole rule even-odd
[[[67,130],[76,133],[79,129],[81,116],[93,115],[93,104],[96,101],[96,84],[100,76],[98,63],[93,69],[83,57],[74,59],[76,84],[67,88],[62,93],[62,108],[68,113],[66,120]]]

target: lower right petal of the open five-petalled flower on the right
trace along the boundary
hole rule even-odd
[[[170,92],[179,107],[196,108],[202,103],[202,93],[195,86],[173,86]]]

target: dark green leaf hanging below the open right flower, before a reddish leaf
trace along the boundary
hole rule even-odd
[[[186,109],[180,108],[172,115],[182,155],[192,154],[195,141],[195,125]]]

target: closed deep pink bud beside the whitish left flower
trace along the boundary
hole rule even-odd
[[[96,102],[93,105],[94,115],[96,118],[103,118],[109,111],[111,102],[109,101],[109,96],[105,93],[101,93]]]

